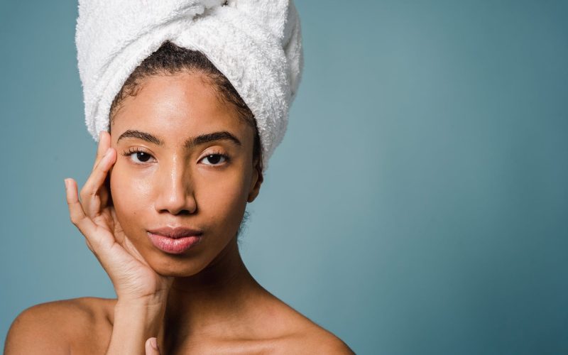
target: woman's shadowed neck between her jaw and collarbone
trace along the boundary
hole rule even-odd
[[[231,239],[200,273],[175,278],[165,308],[165,346],[172,349],[195,334],[234,334],[263,291]]]

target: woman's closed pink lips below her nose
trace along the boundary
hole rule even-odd
[[[203,232],[186,227],[163,227],[148,230],[152,244],[166,253],[180,254],[200,243]]]

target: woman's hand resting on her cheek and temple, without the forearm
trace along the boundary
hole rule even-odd
[[[116,219],[109,186],[104,183],[115,162],[110,134],[102,131],[92,173],[81,189],[81,201],[77,182],[65,179],[70,219],[109,274],[120,302],[165,302],[173,277],[159,275],[148,265]]]

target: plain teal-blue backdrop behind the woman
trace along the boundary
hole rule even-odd
[[[566,1],[297,1],[305,72],[241,251],[358,354],[568,354]],[[68,217],[76,1],[0,0],[0,336],[114,297]]]

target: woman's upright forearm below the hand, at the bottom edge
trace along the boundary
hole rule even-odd
[[[107,355],[145,354],[144,343],[163,327],[165,302],[116,302]]]

